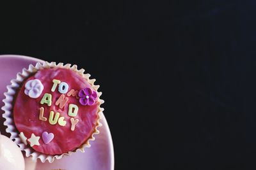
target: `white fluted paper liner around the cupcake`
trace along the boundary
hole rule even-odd
[[[100,107],[101,104],[104,103],[102,99],[99,98],[99,110],[98,110],[98,115],[99,119],[97,120],[97,126],[95,127],[95,131],[93,132],[91,138],[89,138],[86,143],[83,145],[79,146],[74,151],[70,151],[68,153],[63,153],[61,155],[46,155],[44,153],[36,152],[31,148],[29,145],[25,145],[22,140],[19,137],[19,132],[15,128],[15,124],[13,121],[13,103],[15,99],[15,94],[17,93],[17,89],[22,85],[22,82],[26,80],[31,74],[36,73],[40,69],[47,69],[47,68],[53,68],[53,67],[61,67],[61,68],[66,68],[66,69],[71,69],[75,71],[76,73],[80,74],[85,78],[90,85],[92,85],[93,89],[97,92],[98,96],[100,97],[102,95],[102,92],[98,92],[97,90],[99,89],[99,85],[94,85],[95,79],[90,79],[90,74],[84,74],[84,69],[77,69],[76,65],[71,65],[71,64],[65,64],[59,63],[56,64],[56,62],[44,62],[41,64],[40,62],[36,63],[36,66],[33,66],[32,64],[29,65],[28,69],[22,69],[22,73],[17,73],[17,77],[15,79],[11,80],[11,85],[7,86],[7,92],[4,93],[4,96],[6,97],[3,99],[4,106],[2,107],[2,110],[4,111],[3,113],[3,118],[6,120],[4,121],[4,125],[7,126],[6,132],[10,133],[11,139],[14,139],[15,143],[20,146],[21,150],[24,150],[26,153],[26,157],[32,157],[33,160],[40,159],[42,162],[45,162],[45,160],[48,160],[50,163],[54,161],[54,159],[61,159],[63,156],[71,155],[72,153],[75,153],[77,151],[84,152],[84,148],[90,148],[90,141],[95,140],[95,135],[99,134],[99,127],[102,126],[100,123],[100,119],[102,119],[102,111],[104,111],[103,108]]]

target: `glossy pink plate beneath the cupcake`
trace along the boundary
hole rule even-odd
[[[0,100],[4,98],[3,93],[6,92],[6,85],[10,85],[10,80],[16,77],[16,74],[22,71],[22,68],[28,67],[29,64],[42,62],[43,60],[26,57],[22,55],[0,55]],[[1,102],[0,107],[3,106]],[[3,111],[1,110],[1,114]],[[1,133],[9,136],[4,131],[4,119],[0,118]],[[95,141],[90,142],[90,148],[86,148],[84,153],[73,153],[69,157],[63,157],[60,160],[54,160],[52,164],[49,162],[42,163],[31,160],[31,157],[25,158],[26,170],[43,170],[43,169],[62,169],[62,170],[113,170],[114,169],[114,150],[108,123],[104,117],[102,127],[99,128],[100,134],[95,136]]]

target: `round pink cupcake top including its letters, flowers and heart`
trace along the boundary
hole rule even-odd
[[[37,152],[60,155],[91,138],[99,105],[97,91],[75,71],[40,69],[17,92],[13,119],[23,143]]]

